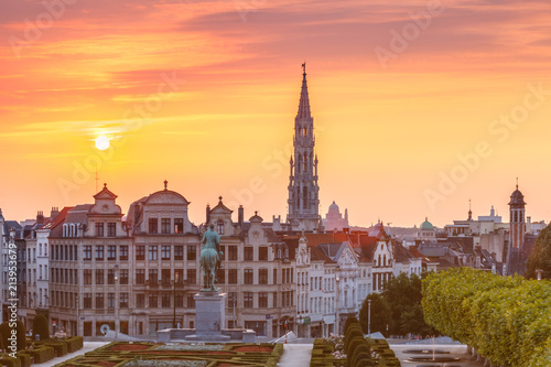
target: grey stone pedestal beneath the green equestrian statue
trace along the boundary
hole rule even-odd
[[[195,299],[195,334],[187,335],[186,341],[227,342],[223,335],[226,325],[226,293],[219,291],[201,291]]]

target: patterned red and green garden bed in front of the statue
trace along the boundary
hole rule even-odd
[[[110,343],[60,364],[60,367],[276,367],[282,344]]]

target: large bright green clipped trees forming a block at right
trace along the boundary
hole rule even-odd
[[[451,269],[423,281],[422,304],[429,325],[474,347],[495,365],[537,366],[549,350],[550,281]]]

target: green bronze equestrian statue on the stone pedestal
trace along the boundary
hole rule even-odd
[[[203,240],[201,241],[199,263],[203,269],[203,289],[202,291],[217,291],[214,287],[216,280],[216,269],[222,259],[220,236],[214,230],[214,225],[208,226]]]

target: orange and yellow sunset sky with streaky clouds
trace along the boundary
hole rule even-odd
[[[443,226],[471,201],[507,220],[518,177],[549,223],[550,17],[520,0],[2,0],[0,208],[33,218],[107,183],[127,213],[168,180],[196,224],[218,196],[284,219],[306,62],[323,216],[335,201],[352,225]]]

